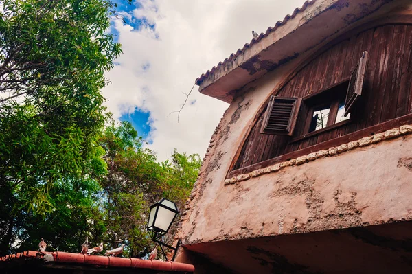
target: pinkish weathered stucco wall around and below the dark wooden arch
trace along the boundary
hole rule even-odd
[[[229,106],[187,203],[183,244],[412,219],[411,135],[225,185],[240,137],[293,65],[252,82]]]

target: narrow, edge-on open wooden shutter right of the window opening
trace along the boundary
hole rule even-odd
[[[365,78],[367,64],[367,52],[363,52],[361,60],[359,60],[355,69],[352,71],[347,87],[345,100],[345,117],[352,111],[354,104],[362,95],[363,79]]]

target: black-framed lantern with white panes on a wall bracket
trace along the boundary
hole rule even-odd
[[[172,247],[168,244],[165,244],[164,242],[161,242],[161,237],[164,236],[165,233],[168,233],[170,227],[172,226],[172,222],[174,218],[176,218],[176,215],[178,213],[179,211],[177,210],[176,204],[166,198],[162,198],[159,202],[150,205],[150,214],[147,229],[150,238],[152,238],[154,242],[157,242],[160,245],[160,249],[163,252],[163,255],[165,255],[166,260],[167,257],[165,251],[163,251],[162,246],[174,250],[172,258],[173,261],[176,257],[176,251],[180,245],[180,239],[177,242],[176,247]]]

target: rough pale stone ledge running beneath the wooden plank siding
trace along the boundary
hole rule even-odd
[[[297,157],[296,159],[292,159],[290,161],[284,161],[282,163],[276,163],[275,165],[268,166],[266,168],[261,168],[259,170],[253,170],[252,172],[246,174],[240,174],[238,176],[234,176],[232,178],[225,180],[225,185],[231,185],[233,183],[237,183],[240,181],[246,181],[251,177],[258,177],[262,176],[263,174],[278,172],[282,170],[282,168],[286,168],[286,166],[290,165],[303,165],[310,161],[315,161],[316,159],[335,156],[339,155],[343,152],[354,150],[357,147],[364,147],[370,146],[371,144],[377,144],[380,141],[384,141],[386,139],[393,139],[399,137],[400,135],[411,134],[412,133],[412,125],[404,125],[398,128],[391,128],[383,133],[377,133],[376,135],[363,137],[358,139],[357,141],[350,141],[347,144],[342,144],[337,147],[329,148],[328,150],[319,150],[318,152],[312,152],[308,155],[304,155],[301,157]]]

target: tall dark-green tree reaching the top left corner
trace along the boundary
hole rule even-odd
[[[106,172],[104,72],[120,45],[104,0],[5,0],[0,11],[0,253],[56,191]],[[55,213],[56,214],[56,213]]]

